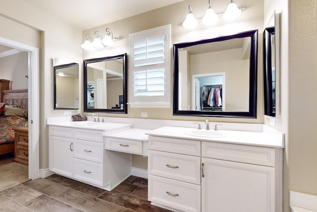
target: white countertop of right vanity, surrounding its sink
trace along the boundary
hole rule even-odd
[[[226,136],[221,138],[196,137],[185,134],[184,132],[193,128],[183,127],[161,127],[156,130],[147,132],[149,136],[161,136],[178,139],[190,139],[198,141],[217,141],[225,143],[236,143],[245,145],[256,145],[266,147],[284,148],[284,135],[282,133],[263,133],[263,132],[246,132],[246,131],[229,131],[225,132]],[[220,131],[220,130],[219,130]]]

